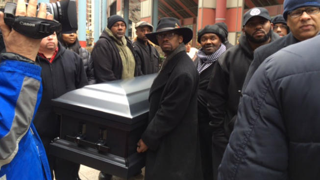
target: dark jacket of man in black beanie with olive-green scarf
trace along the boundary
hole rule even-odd
[[[142,75],[141,60],[133,50],[131,41],[125,37],[127,47],[132,52],[135,59],[134,76]],[[99,40],[91,52],[91,58],[94,62],[94,69],[97,83],[118,80],[122,77],[123,65],[119,50],[114,40],[103,30]]]

